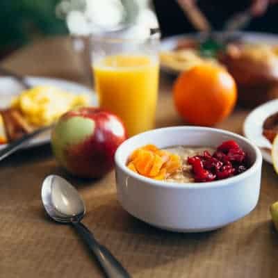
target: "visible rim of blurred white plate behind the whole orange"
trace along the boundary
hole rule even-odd
[[[219,35],[228,35],[227,33],[218,32]],[[272,34],[265,33],[256,33],[256,32],[236,32],[235,35],[240,35],[241,40],[244,42],[253,42],[253,43],[267,43],[267,44],[278,44],[278,36]],[[161,40],[161,51],[170,51],[177,47],[177,43],[181,39],[185,38],[196,38],[197,40],[200,38],[200,33],[189,33],[183,35],[174,35],[172,37],[167,37]],[[167,72],[169,74],[178,74],[177,70],[173,70],[170,67],[166,67],[165,65],[161,65],[161,70],[163,72]]]

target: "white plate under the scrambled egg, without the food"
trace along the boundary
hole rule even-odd
[[[44,78],[44,77],[31,77],[28,76],[26,78],[26,81],[30,85],[53,85],[57,88],[60,88],[62,90],[65,90],[67,92],[72,92],[75,94],[88,94],[91,95],[91,101],[90,105],[97,106],[97,95],[95,92],[92,92],[90,88],[87,88],[83,85],[80,85],[78,83],[65,81],[62,79],[52,79],[52,78]],[[15,95],[19,94],[23,90],[22,85],[20,85],[15,79],[11,77],[0,77],[0,108],[5,108],[10,105],[11,99],[15,97]],[[34,138],[31,140],[28,145],[25,145],[26,147],[34,147],[37,145],[42,145],[50,140],[50,133],[45,132],[38,136],[38,138]],[[6,147],[6,145],[0,145],[0,149],[3,147]]]

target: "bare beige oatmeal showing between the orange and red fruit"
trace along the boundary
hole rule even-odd
[[[172,154],[177,154],[181,157],[182,167],[168,177],[165,177],[165,181],[177,182],[177,183],[193,183],[195,182],[192,166],[188,163],[188,157],[199,156],[204,154],[204,151],[208,151],[211,154],[215,152],[215,149],[211,147],[188,147],[188,146],[173,146],[164,149]]]

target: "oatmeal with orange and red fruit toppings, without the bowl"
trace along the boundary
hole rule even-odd
[[[217,148],[177,145],[135,149],[126,163],[129,170],[158,181],[194,183],[218,181],[245,172],[249,159],[234,140]]]

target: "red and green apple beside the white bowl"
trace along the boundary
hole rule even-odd
[[[51,135],[57,161],[77,177],[97,178],[114,165],[117,147],[126,140],[119,117],[100,108],[83,107],[65,113]]]

